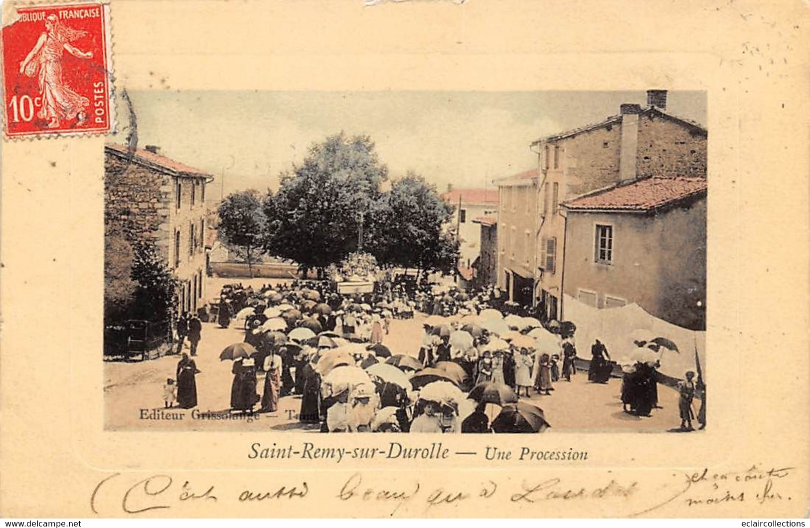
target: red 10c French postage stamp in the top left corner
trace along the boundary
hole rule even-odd
[[[109,5],[19,6],[3,23],[7,136],[105,134],[113,129]]]

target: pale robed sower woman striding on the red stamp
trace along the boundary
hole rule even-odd
[[[83,52],[70,43],[87,32],[68,28],[59,22],[56,15],[45,19],[45,32],[40,35],[34,48],[19,63],[19,73],[28,77],[39,75],[42,107],[36,117],[48,121],[48,128],[60,126],[60,120],[78,118],[79,124],[87,119],[85,109],[90,105],[87,97],[79,96],[62,81],[62,52],[74,57],[91,58],[92,51]]]

